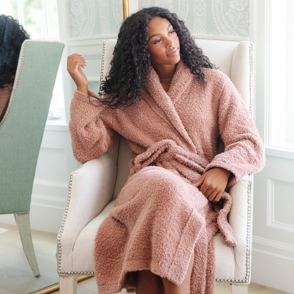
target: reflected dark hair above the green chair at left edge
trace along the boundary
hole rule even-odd
[[[20,50],[29,34],[11,16],[0,14],[0,88],[14,81]]]

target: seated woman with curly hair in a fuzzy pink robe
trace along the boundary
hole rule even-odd
[[[99,98],[81,54],[68,58],[73,153],[96,158],[117,139],[134,157],[111,214],[98,228],[101,294],[214,293],[213,235],[235,244],[225,192],[264,166],[264,148],[231,81],[214,69],[175,14],[145,8],[123,23]],[[225,150],[217,154],[219,139]]]

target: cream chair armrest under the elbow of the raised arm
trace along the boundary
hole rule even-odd
[[[72,264],[74,242],[81,230],[112,200],[117,174],[114,149],[72,172],[63,221],[58,234],[59,267]],[[62,265],[62,264],[63,265]]]

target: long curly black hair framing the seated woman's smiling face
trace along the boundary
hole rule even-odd
[[[113,52],[111,69],[101,81],[98,98],[111,108],[140,100],[142,87],[149,77],[151,63],[148,51],[148,23],[156,16],[167,19],[180,42],[180,56],[200,83],[205,83],[202,68],[215,68],[195,44],[190,31],[175,13],[159,7],[143,8],[122,24]]]

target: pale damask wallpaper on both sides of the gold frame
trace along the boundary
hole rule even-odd
[[[72,37],[117,34],[122,0],[68,0]],[[138,0],[139,9],[168,8],[194,35],[249,36],[249,0]]]

